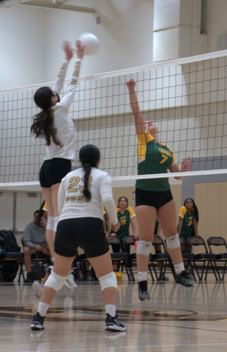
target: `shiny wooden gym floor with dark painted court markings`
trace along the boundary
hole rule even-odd
[[[148,274],[149,275],[149,274]],[[126,332],[104,331],[99,283],[80,283],[71,296],[63,287],[50,306],[45,329],[32,332],[38,298],[31,284],[0,284],[0,351],[203,352],[227,351],[225,282],[208,274],[194,288],[149,281],[150,301],[141,302],[137,284],[118,284],[117,313]]]

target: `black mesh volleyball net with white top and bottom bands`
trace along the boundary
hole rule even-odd
[[[160,142],[173,150],[179,164],[191,157],[192,171],[186,175],[226,173],[226,56],[221,51],[80,78],[69,110],[77,131],[73,168],[80,165],[80,148],[94,144],[100,149],[100,168],[115,185],[135,184],[137,136],[125,84],[133,78],[143,119],[157,124]],[[0,187],[5,189],[39,184],[45,142],[31,136],[30,127],[39,112],[33,96],[43,85],[53,82],[0,91]],[[67,86],[68,81],[60,98]]]

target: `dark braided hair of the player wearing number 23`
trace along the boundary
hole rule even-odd
[[[95,145],[87,144],[80,149],[79,158],[85,171],[83,195],[89,202],[91,200],[91,192],[90,189],[88,189],[90,187],[88,186],[88,179],[91,168],[96,167],[98,159],[100,158],[99,149]]]

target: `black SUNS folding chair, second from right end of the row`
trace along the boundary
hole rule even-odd
[[[205,274],[204,280],[207,279],[207,273],[208,273],[208,268],[209,268],[209,263],[210,263],[211,268],[212,268],[213,273],[214,273],[214,276],[216,278],[216,281],[218,281],[218,278],[216,276],[215,269],[214,269],[214,266],[213,266],[213,263],[212,263],[212,261],[213,262],[215,261],[215,254],[214,253],[208,253],[207,246],[205,244],[204,239],[202,237],[192,237],[191,236],[191,237],[187,238],[187,243],[188,243],[189,246],[204,246],[204,248],[205,248],[205,253],[194,254],[194,258],[192,259],[192,262],[195,265],[195,269],[196,269],[199,281],[202,281],[202,279],[203,279],[203,272],[204,272],[204,269],[205,269],[205,263],[206,262],[207,262],[207,270],[206,270],[206,274]],[[201,276],[198,273],[198,268],[197,268],[196,262],[203,263]]]

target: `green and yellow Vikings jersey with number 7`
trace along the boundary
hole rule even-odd
[[[172,150],[163,143],[155,142],[149,131],[138,134],[138,175],[166,174],[168,167],[176,164]],[[136,188],[145,191],[167,191],[168,177],[136,180]]]

